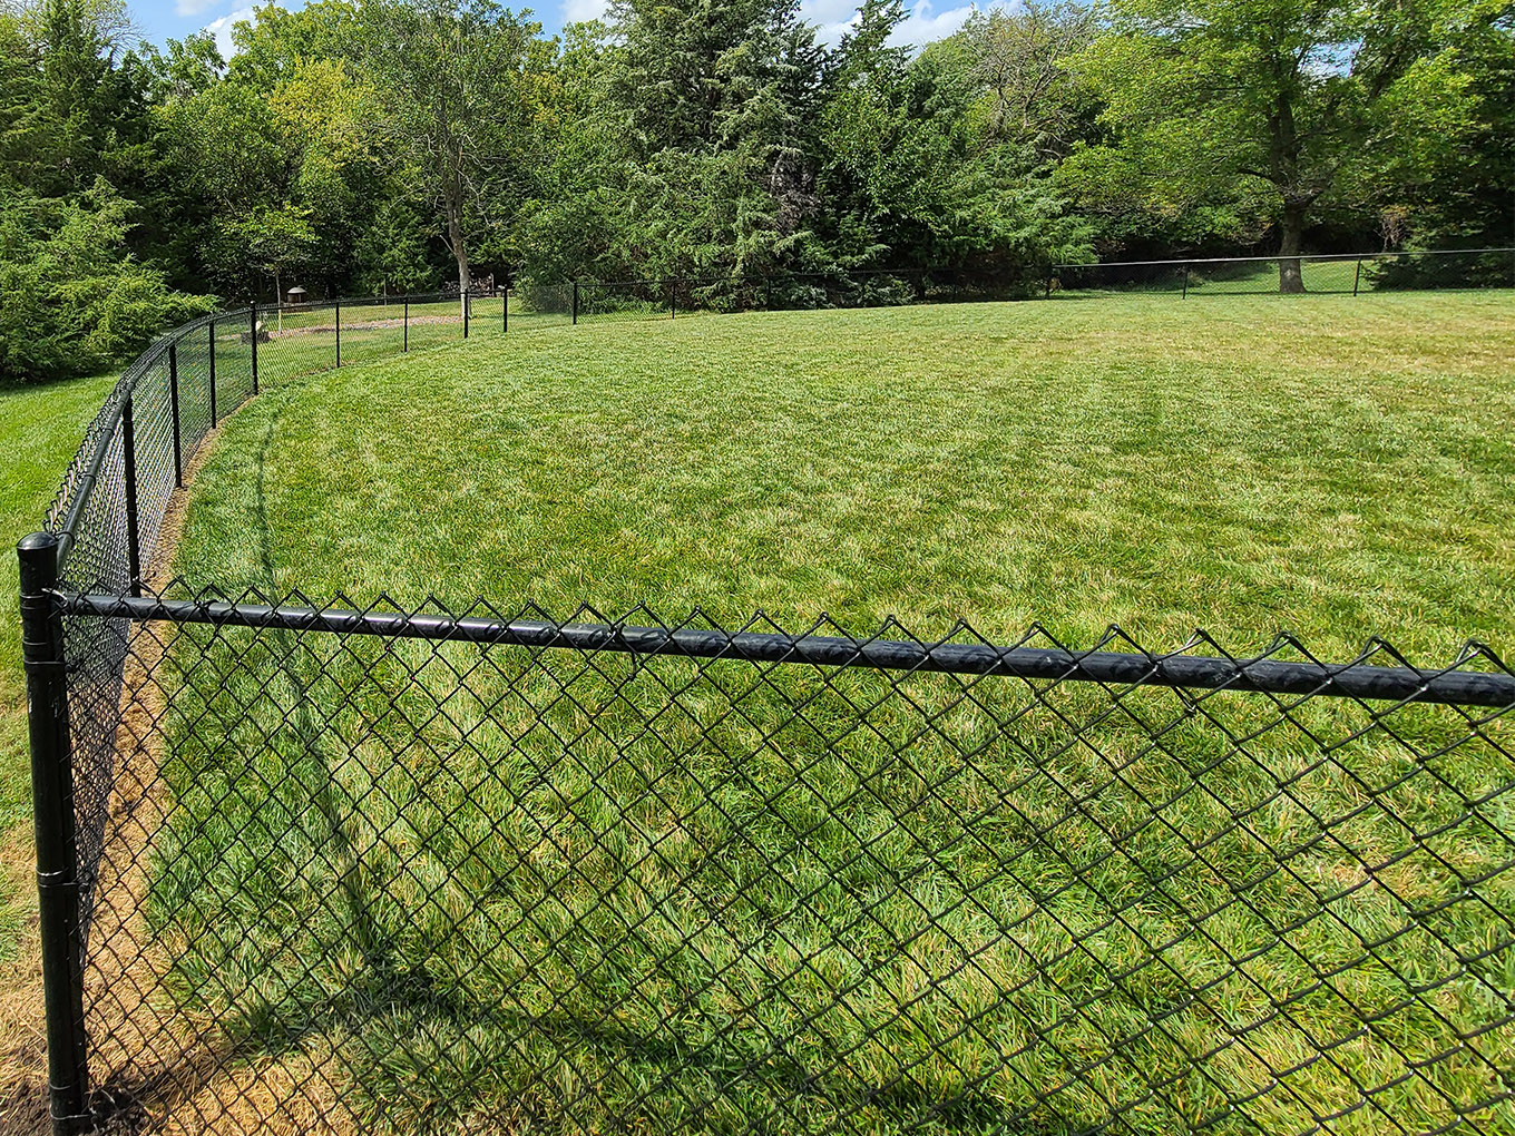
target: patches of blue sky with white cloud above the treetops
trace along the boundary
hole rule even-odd
[[[301,0],[279,2],[285,8],[301,3]],[[136,0],[136,3],[129,0],[129,5],[136,30],[144,39],[162,44],[170,36],[182,39],[191,32],[209,27],[220,41],[223,53],[232,45],[232,24],[248,18],[253,11],[248,0]],[[973,12],[971,0],[915,0],[914,5],[906,0],[906,6],[911,18],[900,29],[900,38],[914,44],[950,35]],[[854,8],[856,0],[801,0],[800,5],[804,18],[817,24],[829,42],[841,36]],[[568,21],[589,20],[603,11],[604,0],[538,0],[538,6],[533,8],[548,35]]]

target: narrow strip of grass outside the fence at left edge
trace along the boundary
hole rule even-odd
[[[21,674],[21,629],[17,613],[15,542],[42,527],[48,503],[68,459],[79,448],[115,379],[83,379],[36,388],[0,389],[0,530],[8,560],[0,568],[0,841],[30,845],[30,766],[26,751],[26,679]],[[18,857],[21,859],[21,857]],[[15,933],[24,912],[35,910],[29,863],[15,863],[0,879],[0,966],[15,960]]]

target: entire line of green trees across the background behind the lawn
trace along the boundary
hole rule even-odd
[[[798,0],[0,9],[0,380],[314,297],[1515,239],[1515,6],[1029,0],[835,44]],[[1283,261],[1279,286],[1303,288]]]

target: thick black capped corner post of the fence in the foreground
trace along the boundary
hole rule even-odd
[[[21,657],[32,748],[32,815],[36,822],[42,1000],[47,1007],[48,1115],[53,1133],[68,1136],[91,1127],[91,1116],[64,615],[53,597],[58,586],[58,536],[32,533],[17,545],[17,557],[21,566]]]

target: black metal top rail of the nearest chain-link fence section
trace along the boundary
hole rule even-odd
[[[1007,676],[1121,686],[1248,691],[1276,695],[1418,701],[1450,706],[1515,706],[1515,676],[1498,671],[1286,662],[1268,657],[1224,659],[1194,654],[1070,651],[1044,647],[994,647],[962,642],[853,639],[832,635],[780,635],[626,624],[558,624],[444,613],[359,612],[156,597],[62,597],[71,615],[217,627],[330,632],[398,639],[445,639],[488,645],[671,654],[688,659],[865,666],[886,671]]]

